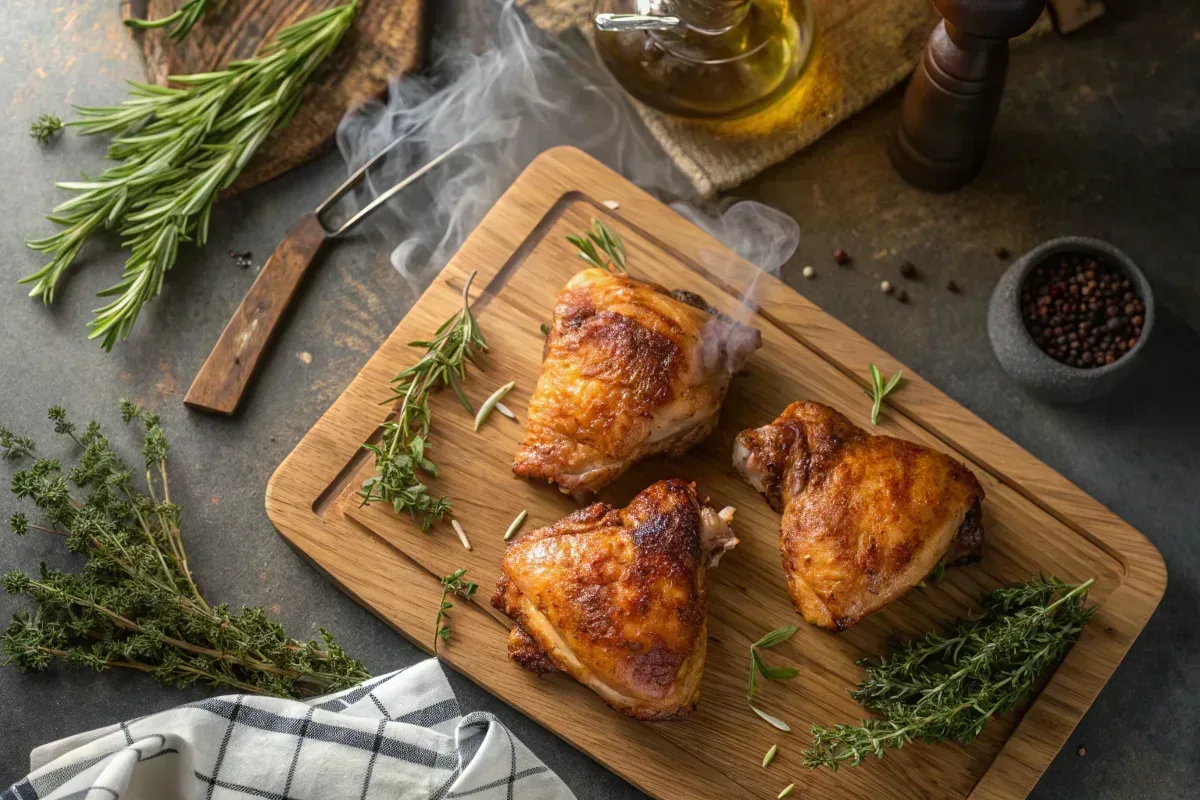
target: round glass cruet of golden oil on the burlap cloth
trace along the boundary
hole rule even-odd
[[[808,0],[598,0],[595,44],[629,94],[683,116],[756,112],[799,78]]]

